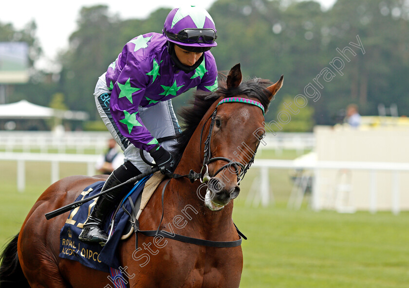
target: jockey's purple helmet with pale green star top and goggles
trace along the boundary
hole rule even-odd
[[[163,34],[168,41],[190,47],[215,47],[216,26],[203,8],[184,6],[167,15]]]

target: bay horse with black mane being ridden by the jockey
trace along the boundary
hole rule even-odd
[[[257,150],[264,135],[264,111],[282,82],[283,76],[275,84],[260,78],[242,83],[237,64],[223,85],[219,81],[217,90],[196,92],[200,95],[196,95],[194,106],[181,113],[185,125],[174,151],[174,175],[201,171],[200,181],[165,179],[139,217],[141,230],[173,224],[187,237],[240,239],[232,220],[233,199],[254,161],[249,151]],[[3,251],[1,288],[112,287],[109,273],[58,256],[59,232],[69,212],[51,220],[44,217],[46,212],[72,203],[84,187],[104,179],[102,175],[69,176],[41,194],[19,234]],[[139,248],[135,250],[135,237],[133,234],[117,247],[128,287],[239,287],[243,268],[240,245],[208,247],[138,234]]]

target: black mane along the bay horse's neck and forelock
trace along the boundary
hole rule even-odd
[[[210,106],[221,96],[228,98],[238,95],[246,95],[249,98],[257,99],[257,101],[263,105],[265,111],[267,111],[268,104],[270,103],[268,98],[271,96],[271,93],[266,90],[265,87],[272,84],[269,80],[253,78],[242,82],[236,88],[227,88],[226,76],[223,73],[218,74],[218,79],[219,87],[217,90],[213,92],[196,90],[194,98],[189,101],[190,105],[183,107],[178,113],[179,119],[181,119],[182,122],[182,133],[177,137],[177,144],[173,146],[173,157],[176,164],[178,164],[182,158],[187,143],[200,121],[203,119]]]

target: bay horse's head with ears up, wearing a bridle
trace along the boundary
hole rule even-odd
[[[283,76],[275,84],[260,78],[242,83],[237,64],[229,71],[225,84],[207,95],[199,92],[194,109],[182,111],[185,123],[194,122],[194,113],[203,118],[196,123],[196,130],[200,130],[196,133],[200,133],[201,181],[207,184],[204,200],[210,210],[223,209],[239,195],[240,181],[265,134],[264,113],[282,83]],[[201,107],[205,107],[205,114],[197,111]]]

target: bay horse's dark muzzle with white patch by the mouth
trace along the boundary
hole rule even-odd
[[[210,210],[218,211],[239,196],[239,193],[240,187],[237,184],[226,185],[221,179],[212,177],[207,183],[205,204]]]

